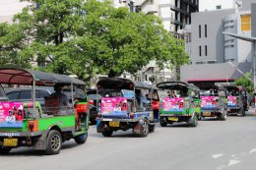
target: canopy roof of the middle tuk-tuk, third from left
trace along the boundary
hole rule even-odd
[[[193,90],[200,90],[198,86],[193,84],[187,84],[184,82],[163,82],[157,85],[161,89],[170,89],[170,90],[178,90],[189,88]]]

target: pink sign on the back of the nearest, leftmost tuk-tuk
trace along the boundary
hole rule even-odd
[[[22,102],[0,102],[0,128],[22,128],[23,119]]]

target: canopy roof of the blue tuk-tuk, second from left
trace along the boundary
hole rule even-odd
[[[132,81],[124,78],[103,78],[96,83],[96,86],[97,88],[104,89],[134,89],[134,87],[158,89],[155,85],[149,85],[146,83]]]

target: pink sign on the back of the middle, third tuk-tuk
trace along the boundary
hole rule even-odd
[[[184,97],[176,98],[163,98],[162,99],[162,110],[163,111],[180,111],[184,110]]]

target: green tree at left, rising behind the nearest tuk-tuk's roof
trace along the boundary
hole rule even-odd
[[[76,45],[77,32],[84,20],[84,0],[23,0],[30,5],[15,16],[30,38],[21,54],[46,63],[46,71],[59,74],[86,74],[85,61]]]

